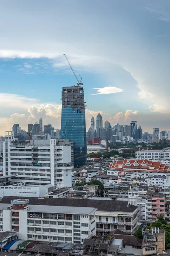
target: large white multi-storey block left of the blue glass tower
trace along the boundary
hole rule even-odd
[[[8,132],[3,144],[3,175],[13,183],[30,186],[51,184],[56,188],[71,187],[73,169],[72,143],[68,140],[11,140]]]

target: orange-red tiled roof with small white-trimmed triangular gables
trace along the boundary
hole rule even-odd
[[[135,163],[137,163],[137,165],[134,165]],[[142,164],[146,166],[142,166]],[[134,171],[134,169],[137,169],[141,172],[170,172],[169,166],[166,166],[164,163],[138,159],[117,160],[110,164],[109,169],[119,171]]]

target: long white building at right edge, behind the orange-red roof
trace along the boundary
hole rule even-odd
[[[161,161],[165,159],[170,159],[170,150],[169,149],[168,150],[147,149],[142,151],[136,151],[135,155],[136,155],[136,159]]]

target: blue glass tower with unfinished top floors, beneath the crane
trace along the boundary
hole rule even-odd
[[[62,88],[61,138],[74,145],[74,167],[86,164],[85,102],[82,86]]]

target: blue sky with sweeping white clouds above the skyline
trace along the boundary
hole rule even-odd
[[[83,78],[86,128],[170,130],[169,0],[0,1],[0,135],[61,125],[61,91]]]

